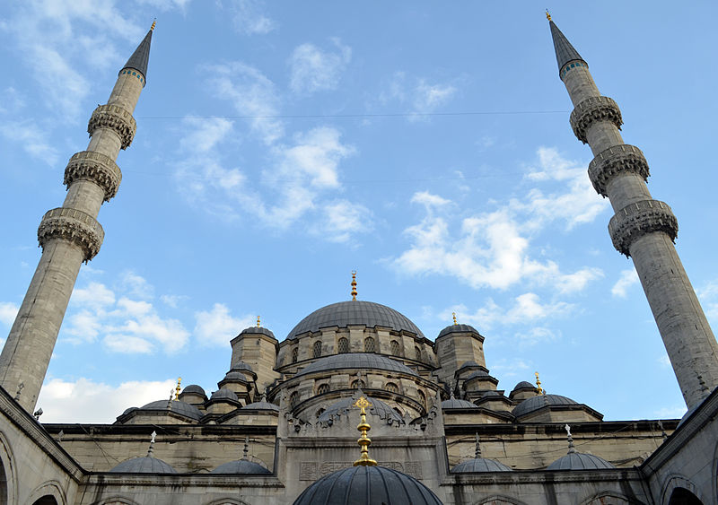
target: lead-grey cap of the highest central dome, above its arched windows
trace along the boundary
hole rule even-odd
[[[287,339],[293,339],[304,332],[316,332],[324,327],[346,328],[349,325],[366,327],[389,327],[395,331],[407,331],[424,337],[421,330],[406,316],[380,303],[363,300],[349,300],[332,303],[315,310],[293,327]]]

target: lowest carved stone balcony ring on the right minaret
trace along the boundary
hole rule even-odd
[[[626,205],[609,222],[613,247],[626,257],[631,256],[629,248],[636,239],[654,231],[663,231],[671,240],[679,234],[676,216],[668,204],[659,200],[642,200]]]

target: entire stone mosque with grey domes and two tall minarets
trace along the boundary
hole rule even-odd
[[[39,266],[0,355],[0,504],[718,503],[718,344],[673,245],[678,222],[648,192],[617,103],[548,22],[571,126],[595,156],[589,177],[644,286],[682,420],[604,422],[580,398],[546,394],[538,376],[500,387],[476,328],[454,320],[424,335],[358,300],[353,279],[348,300],[281,339],[259,320],[242,330],[214,392],[178,383],[112,424],[41,424],[33,412],[67,302],[99,251],[96,217],[135,135],[151,29],[92,113],[64,204],[39,225]]]

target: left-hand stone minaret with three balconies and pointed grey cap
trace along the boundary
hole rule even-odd
[[[98,253],[104,238],[96,218],[122,179],[115,160],[135,135],[132,112],[146,81],[153,29],[154,23],[119,71],[107,105],[92,112],[87,151],[67,163],[65,203],[45,213],[39,224],[42,256],[0,354],[0,386],[29,412],[48,371],[80,264]]]

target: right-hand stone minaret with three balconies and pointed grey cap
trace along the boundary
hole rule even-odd
[[[589,65],[548,13],[547,19],[558,74],[574,102],[571,126],[594,155],[591,183],[609,197],[615,212],[609,222],[611,240],[634,261],[683,397],[693,407],[718,386],[718,344],[673,245],[678,221],[668,205],[649,193],[648,163],[640,149],[624,144],[616,102],[601,96]]]

